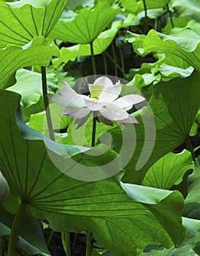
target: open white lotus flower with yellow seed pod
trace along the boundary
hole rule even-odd
[[[107,77],[97,78],[93,84],[89,84],[91,97],[77,94],[68,83],[63,82],[66,88],[58,90],[59,94],[48,95],[48,97],[64,107],[62,113],[75,118],[78,127],[81,127],[92,113],[98,121],[104,124],[112,125],[111,120],[139,124],[136,118],[129,115],[126,110],[130,110],[133,105],[142,102],[145,98],[136,94],[128,94],[117,99],[121,92],[120,80],[113,84],[112,80]]]

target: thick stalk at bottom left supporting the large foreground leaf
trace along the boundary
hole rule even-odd
[[[20,226],[20,222],[23,218],[23,213],[26,209],[27,204],[21,202],[18,208],[17,214],[12,222],[12,227],[9,235],[9,246],[7,256],[15,255],[15,246],[18,241],[18,227]]]

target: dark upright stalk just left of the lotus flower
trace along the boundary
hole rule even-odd
[[[41,72],[42,72],[42,93],[43,93],[43,98],[44,98],[44,104],[45,104],[45,111],[46,111],[46,116],[47,116],[47,126],[49,129],[49,134],[50,134],[50,139],[55,140],[54,134],[53,134],[53,125],[50,117],[50,108],[49,107],[49,101],[47,98],[47,75],[46,75],[46,68],[41,67]]]

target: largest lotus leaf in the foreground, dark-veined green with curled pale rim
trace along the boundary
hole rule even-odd
[[[74,225],[79,229],[88,227],[97,241],[117,256],[139,255],[147,244],[170,247],[181,243],[185,230],[180,221],[183,200],[179,192],[152,189],[148,198],[145,196],[148,194],[147,187],[130,185],[130,195],[134,195],[139,188],[139,194],[132,201],[114,179],[83,182],[69,178],[50,161],[42,135],[29,130],[18,116],[18,125],[26,139],[21,137],[15,123],[18,95],[1,91],[0,97],[1,169],[12,193],[28,203],[31,213],[36,208],[38,212],[43,211],[48,220],[53,212],[67,214],[63,215],[68,220],[66,230],[74,229]],[[73,146],[65,148],[69,156],[80,151],[80,148]],[[96,166],[113,157],[116,154],[108,151],[93,163],[93,157],[82,157],[81,154],[79,162],[88,159],[89,165]],[[47,211],[52,214],[47,214]],[[58,218],[56,222],[59,222]],[[65,229],[64,222],[62,228]],[[178,237],[177,230],[180,233]]]

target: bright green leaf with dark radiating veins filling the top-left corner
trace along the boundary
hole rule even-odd
[[[36,36],[47,37],[68,0],[0,1],[0,47],[26,45]]]

